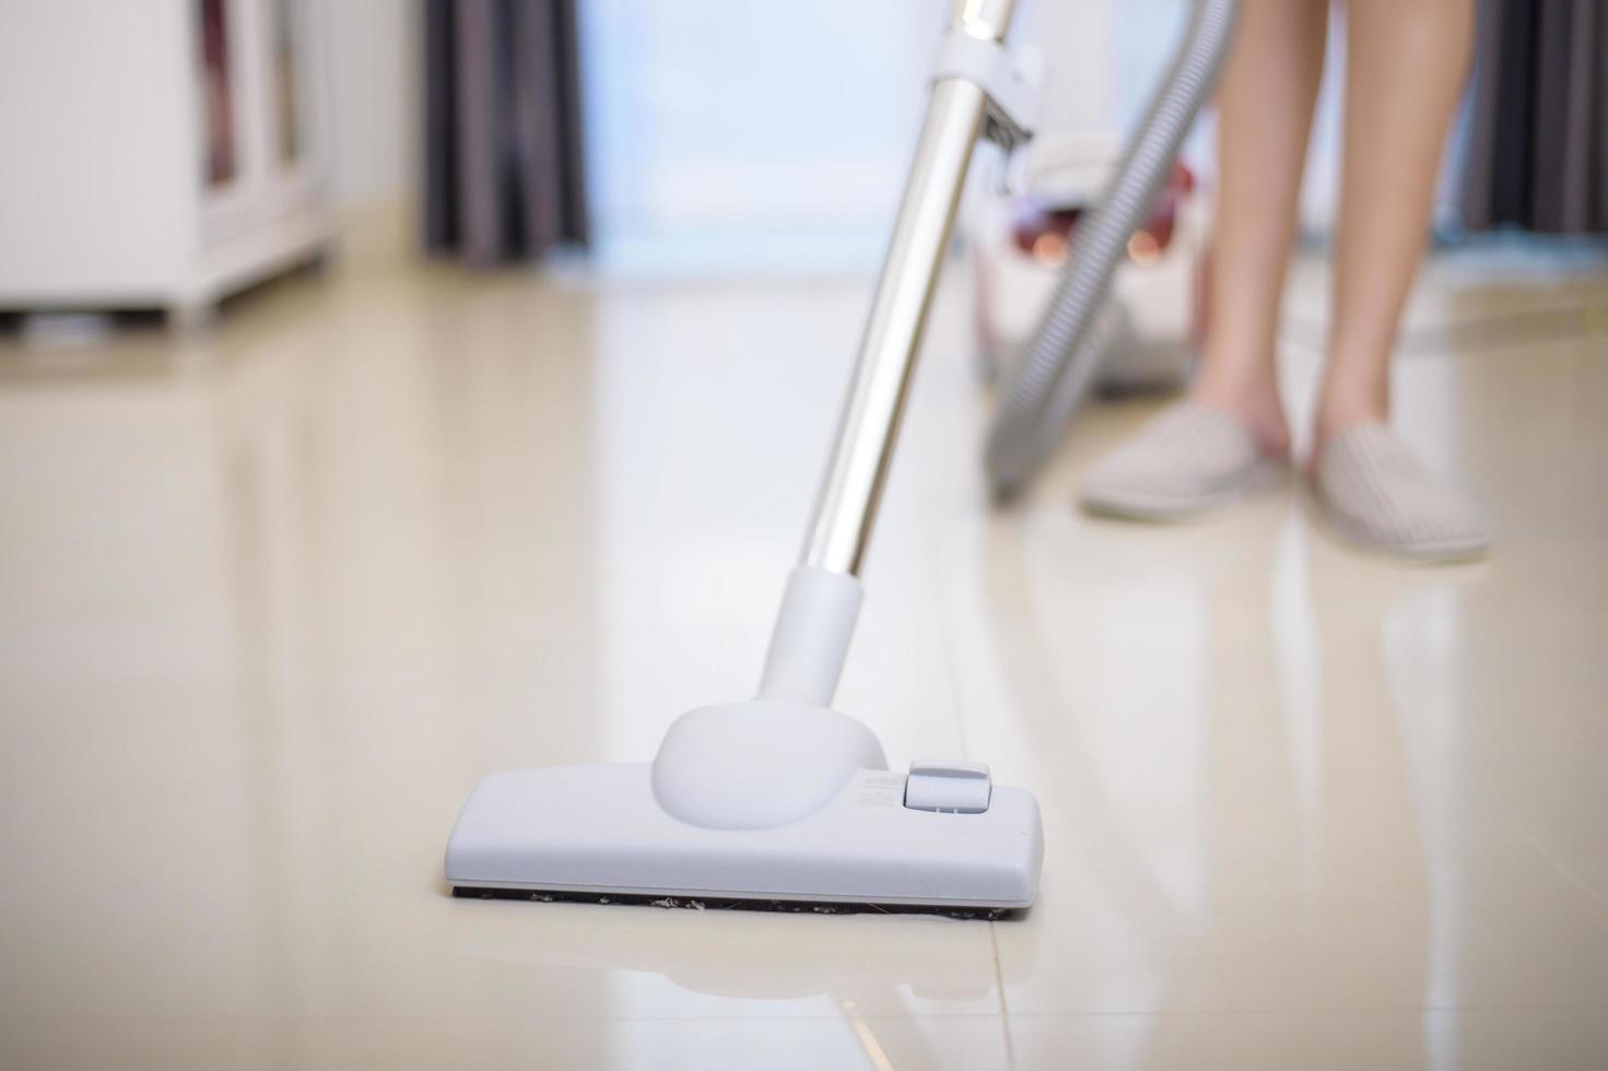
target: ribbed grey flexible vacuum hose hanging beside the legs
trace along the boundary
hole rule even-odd
[[[997,499],[1019,490],[1055,447],[1105,349],[1098,314],[1127,241],[1172,170],[1229,51],[1238,0],[1195,0],[1172,69],[1129,140],[1098,207],[1077,225],[1076,252],[1021,360],[1000,391],[986,465]]]

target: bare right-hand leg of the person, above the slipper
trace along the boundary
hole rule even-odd
[[[1335,323],[1317,442],[1389,413],[1402,304],[1473,47],[1473,0],[1351,0]]]

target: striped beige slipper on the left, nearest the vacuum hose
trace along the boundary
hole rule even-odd
[[[1290,460],[1264,453],[1237,420],[1185,400],[1095,463],[1077,500],[1090,513],[1180,521],[1275,487],[1288,471]]]

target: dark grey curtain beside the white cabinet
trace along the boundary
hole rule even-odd
[[[425,84],[426,248],[587,241],[574,0],[425,0]]]

